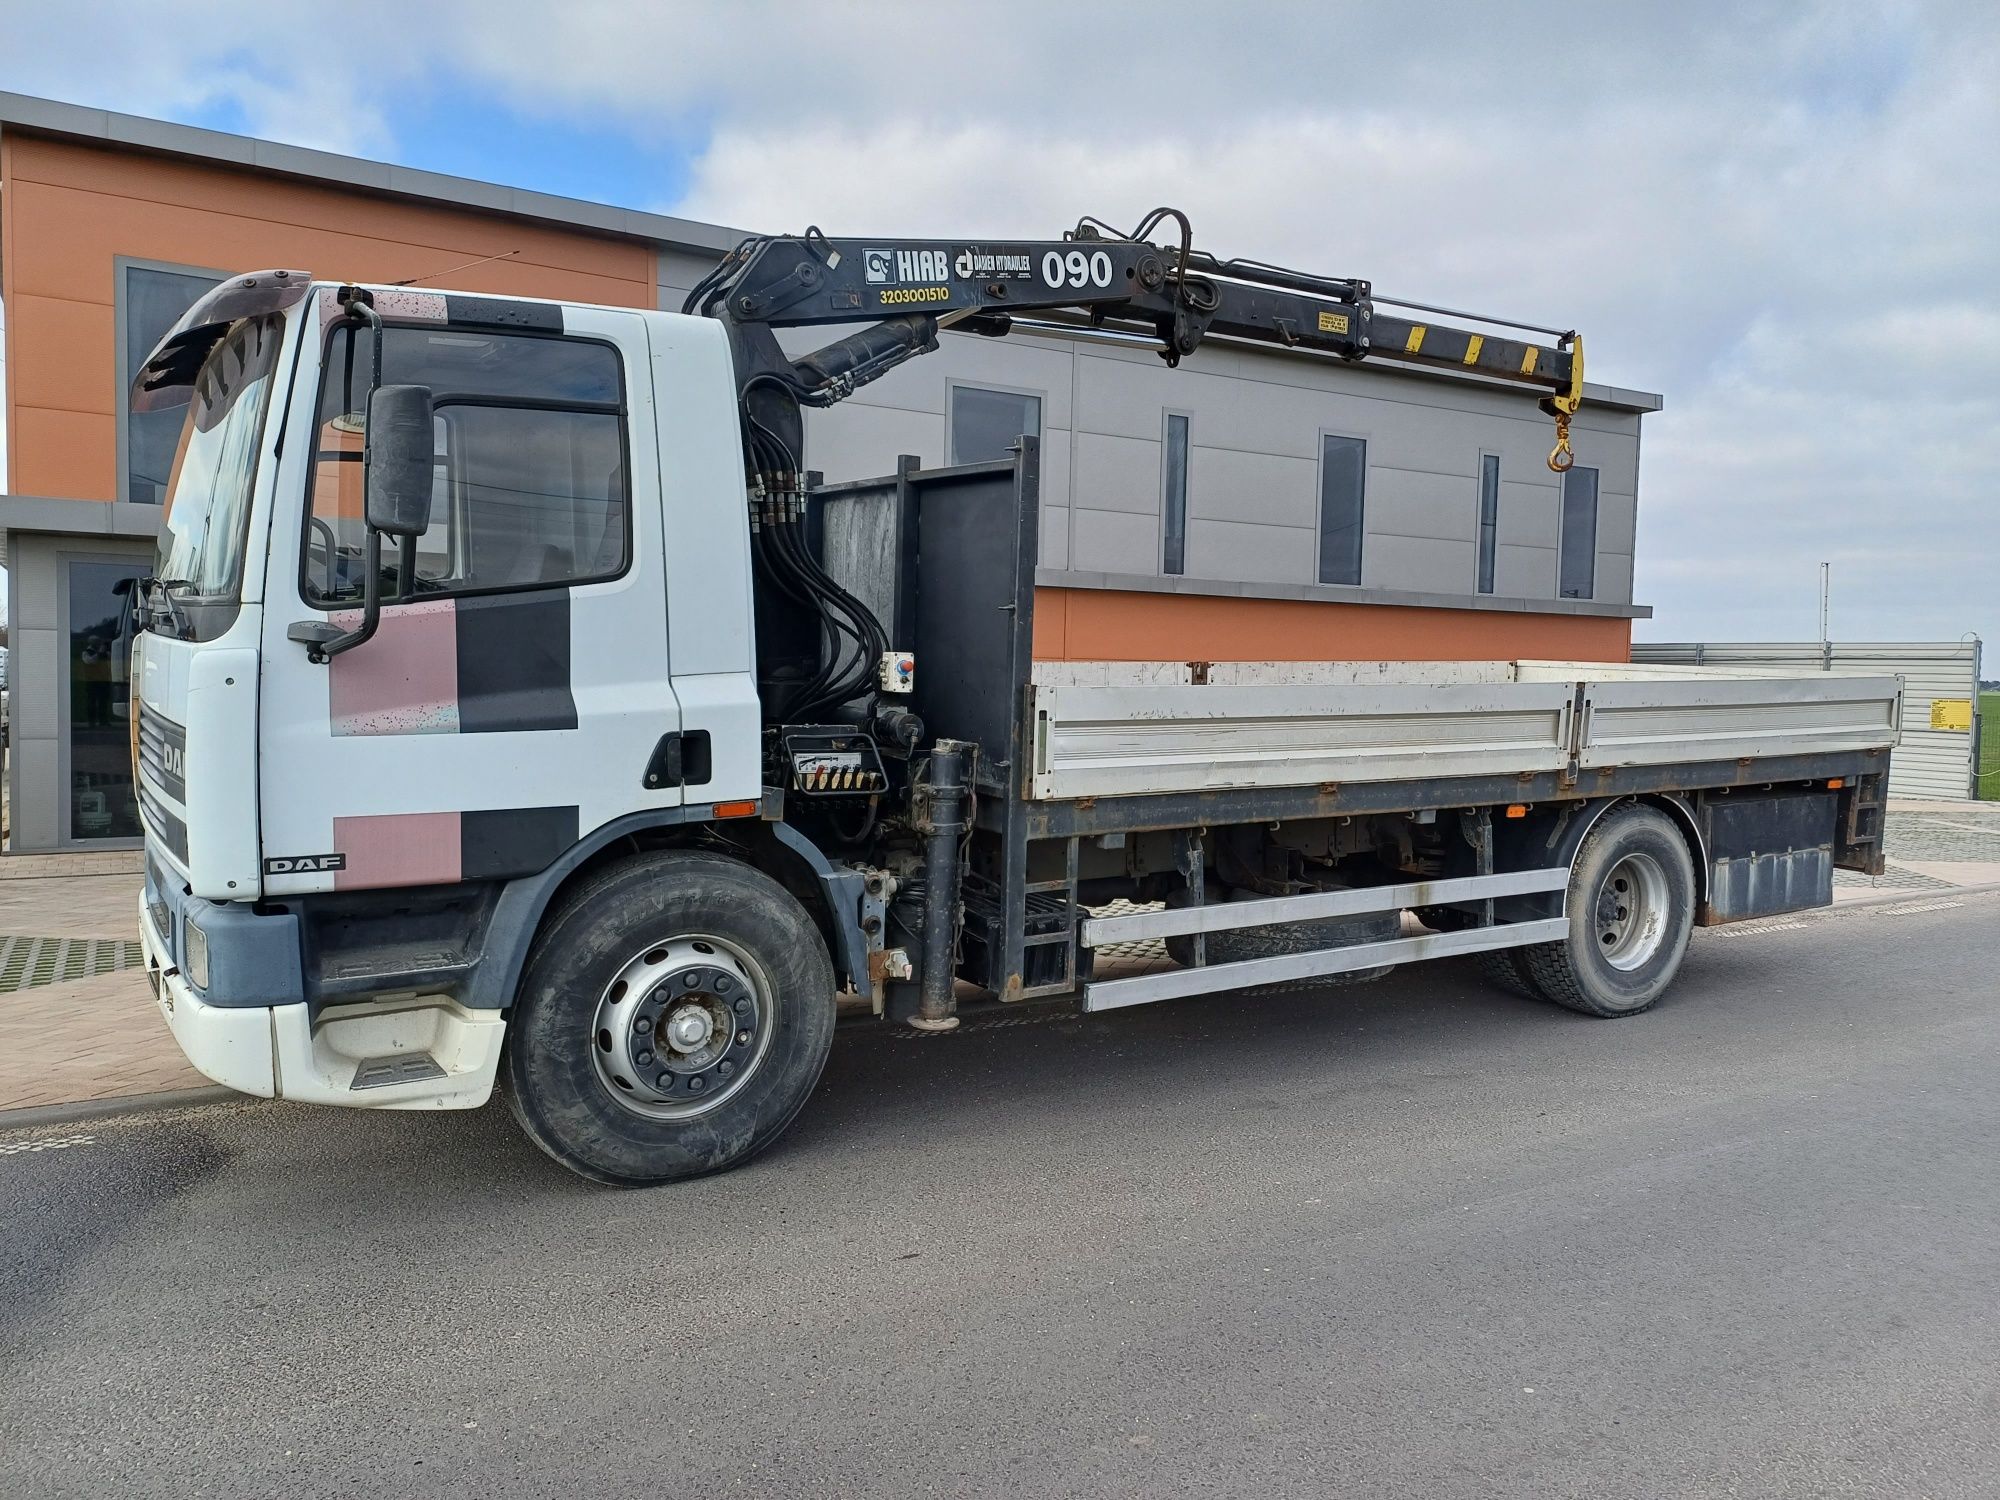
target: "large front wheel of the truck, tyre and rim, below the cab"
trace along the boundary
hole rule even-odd
[[[594,876],[536,944],[508,1100],[572,1172],[674,1182],[784,1134],[832,1040],[834,966],[806,908],[736,860],[646,854]]]

